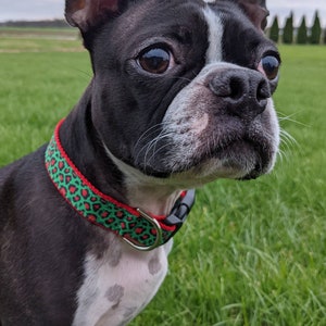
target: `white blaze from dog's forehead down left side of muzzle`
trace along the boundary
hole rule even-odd
[[[215,1],[204,2],[213,3]],[[164,117],[166,129],[174,135],[176,145],[173,158],[166,160],[166,165],[172,170],[180,161],[184,161],[186,165],[191,165],[192,155],[201,145],[197,139],[210,123],[210,116],[205,112],[205,108],[209,105],[205,99],[210,99],[211,91],[204,86],[204,82],[208,74],[216,65],[220,66],[223,60],[224,27],[221,18],[209,5],[205,5],[202,13],[208,25],[206,64],[199,75],[176,96]]]

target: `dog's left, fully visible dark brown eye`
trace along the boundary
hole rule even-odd
[[[152,48],[140,53],[138,64],[151,74],[165,73],[171,63],[171,53],[162,48]]]

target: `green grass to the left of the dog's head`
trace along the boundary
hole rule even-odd
[[[20,39],[15,42],[21,47]],[[62,49],[62,40],[38,39],[30,51],[0,53],[0,166],[48,141],[55,122],[75,105],[90,80],[86,51],[35,52],[48,42],[51,49]],[[3,43],[7,40],[0,39],[0,49]]]

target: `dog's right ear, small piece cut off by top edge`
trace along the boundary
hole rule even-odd
[[[267,16],[269,14],[266,8],[266,1],[236,0],[236,2],[244,10],[253,25],[263,32],[267,25]]]

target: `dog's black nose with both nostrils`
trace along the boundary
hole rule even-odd
[[[253,118],[261,114],[271,98],[269,84],[259,72],[231,68],[220,71],[209,83],[223,100],[228,113]]]

